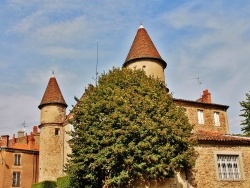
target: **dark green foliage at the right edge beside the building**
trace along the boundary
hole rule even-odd
[[[250,93],[246,93],[246,100],[241,101],[240,105],[242,107],[241,111],[243,112],[240,116],[244,118],[244,120],[241,121],[241,125],[244,126],[241,130],[245,134],[250,135]]]

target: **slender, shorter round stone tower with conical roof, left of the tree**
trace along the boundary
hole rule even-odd
[[[54,74],[38,108],[41,110],[39,182],[55,181],[63,173],[63,121],[67,104]]]

